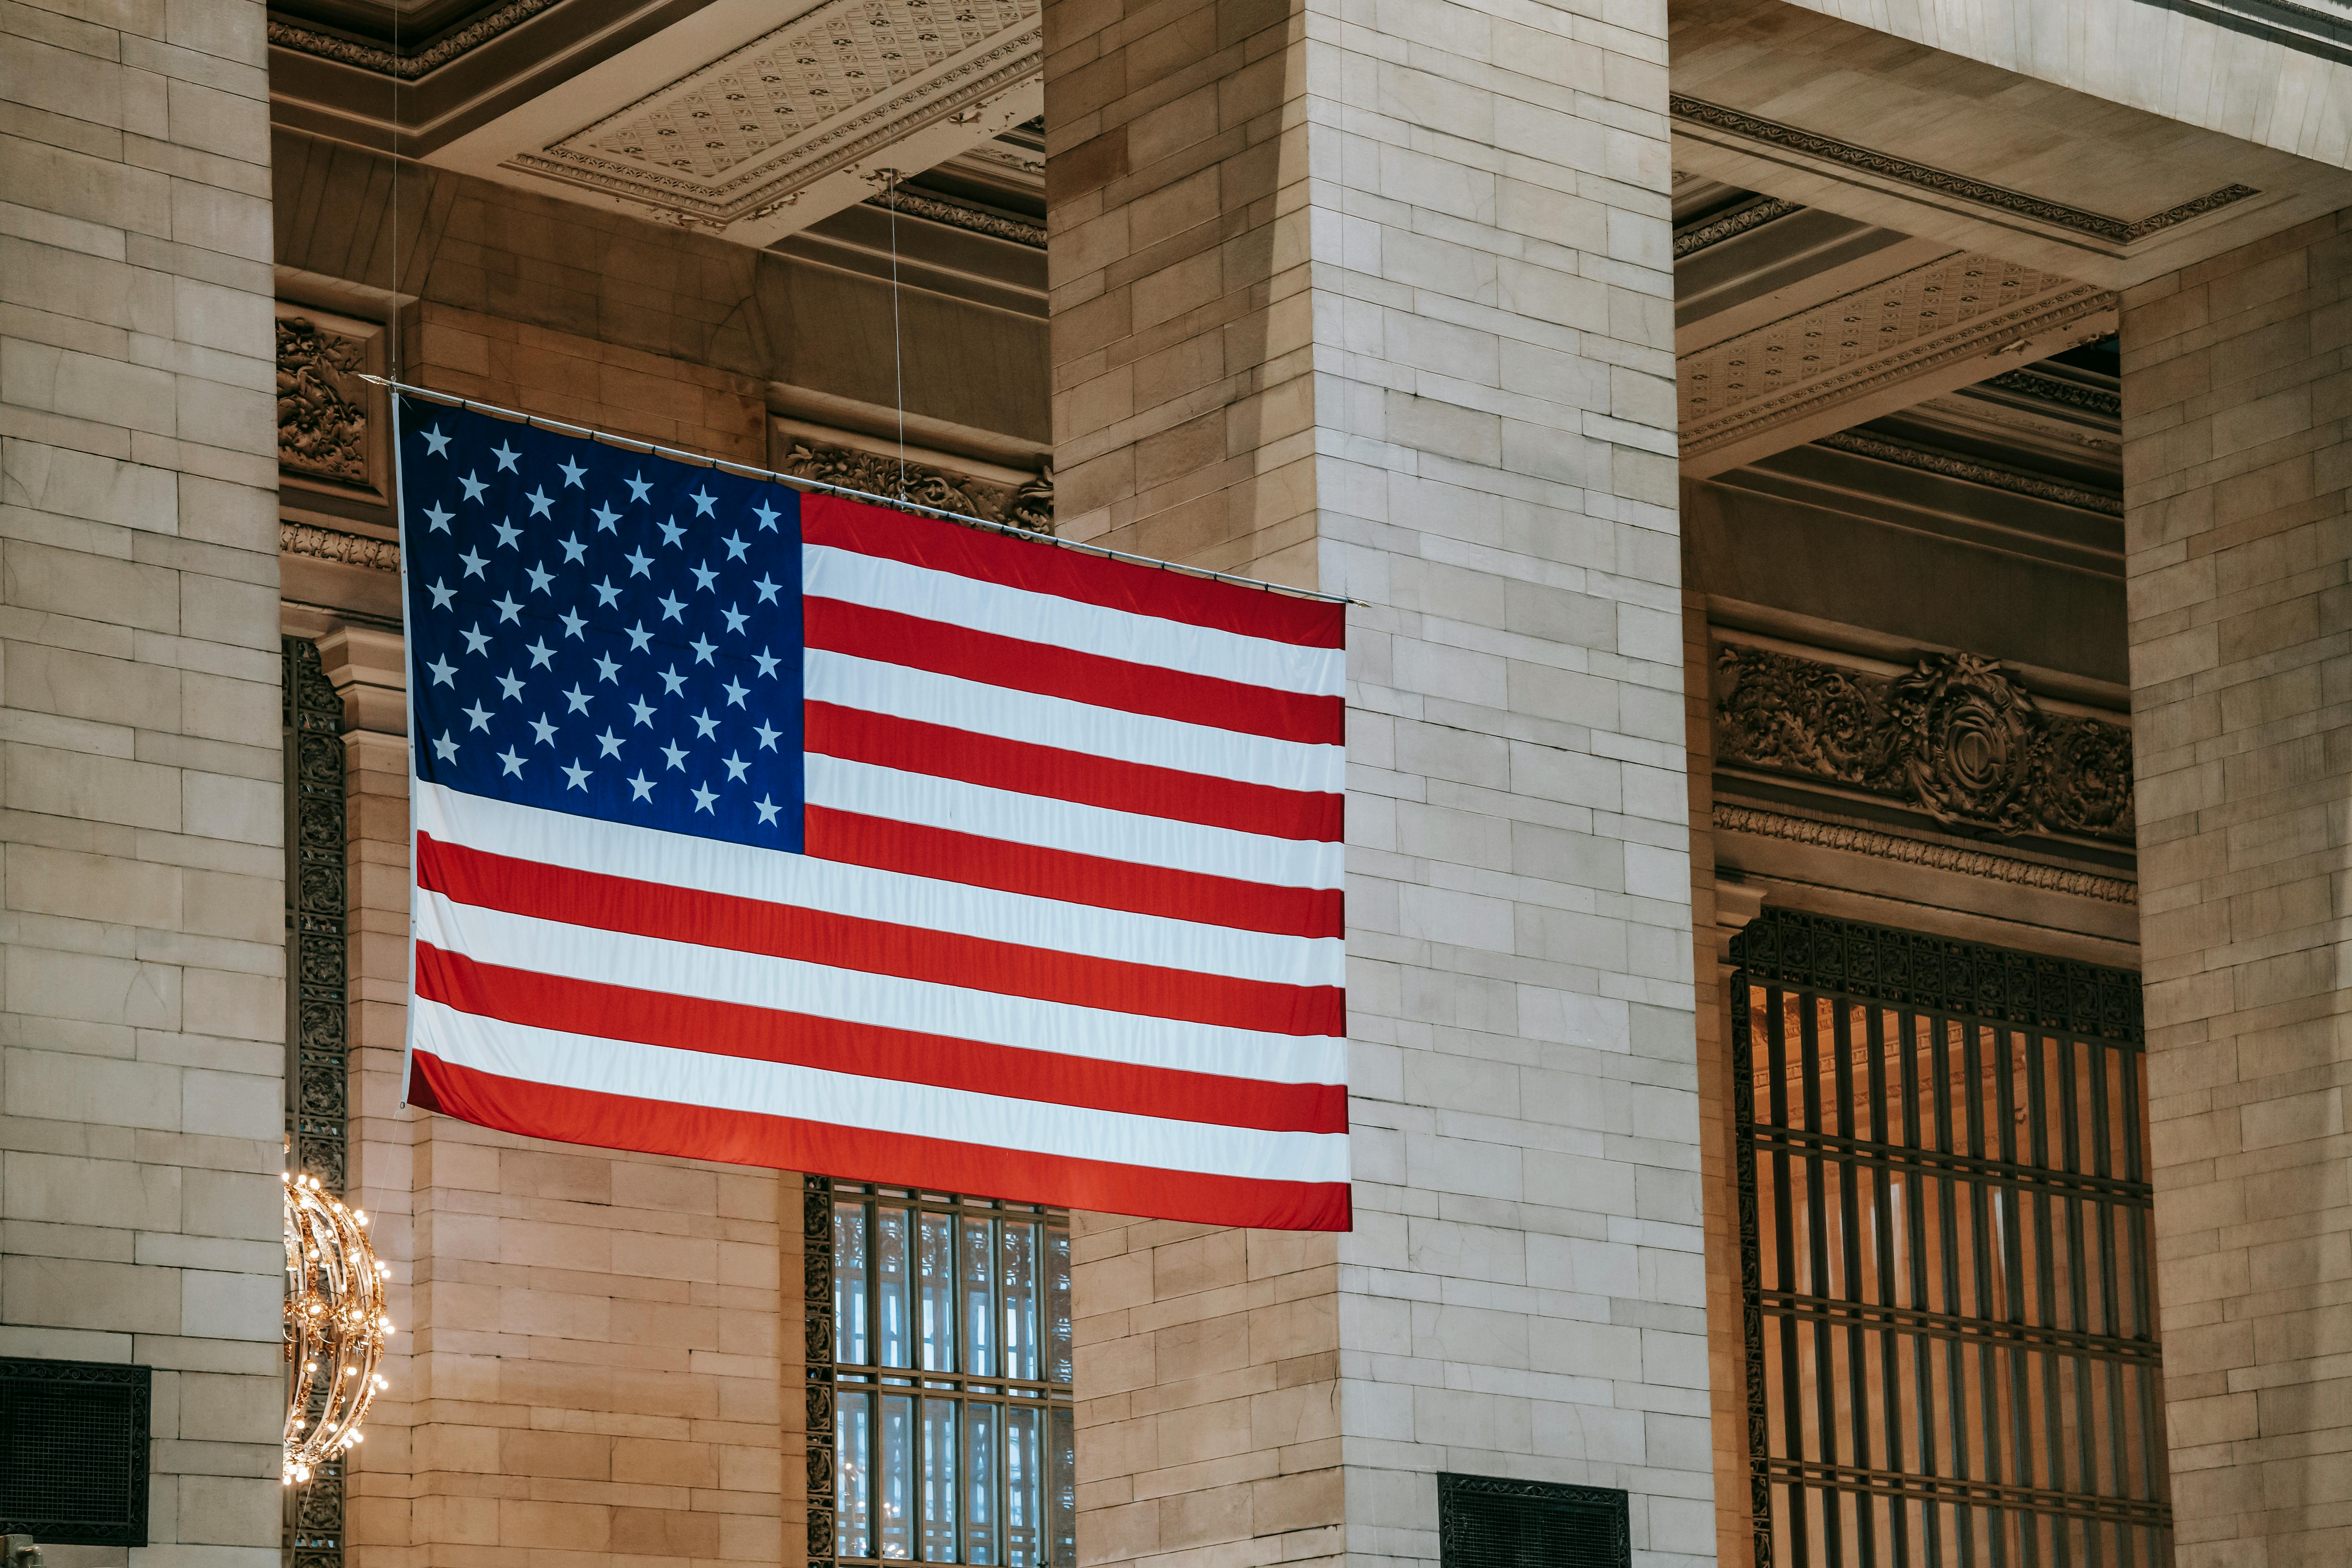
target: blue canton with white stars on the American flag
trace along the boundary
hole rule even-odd
[[[802,846],[800,496],[400,400],[416,773]]]

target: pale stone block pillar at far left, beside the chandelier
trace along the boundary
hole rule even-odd
[[[285,936],[261,5],[9,5],[0,101],[0,1354],[155,1368],[139,1561],[266,1568]]]

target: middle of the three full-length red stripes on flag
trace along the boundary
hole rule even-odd
[[[743,1001],[673,997],[602,980],[569,980],[529,969],[475,964],[416,943],[416,994],[461,1013],[534,1030],[633,1039],[673,1051],[706,1051],[757,1063],[898,1084],[936,1084],[1004,1100],[1080,1105],[1127,1117],[1214,1121],[1265,1133],[1345,1133],[1343,1084],[1270,1084],[1174,1067],[1103,1063],[1054,1051],[990,1046],[948,1034],[811,1018]]]

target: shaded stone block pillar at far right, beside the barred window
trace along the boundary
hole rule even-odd
[[[2352,214],[2124,294],[2180,1568],[2352,1554]]]

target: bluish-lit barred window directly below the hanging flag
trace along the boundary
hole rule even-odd
[[[1077,1561],[1070,1222],[807,1182],[809,1556]]]

